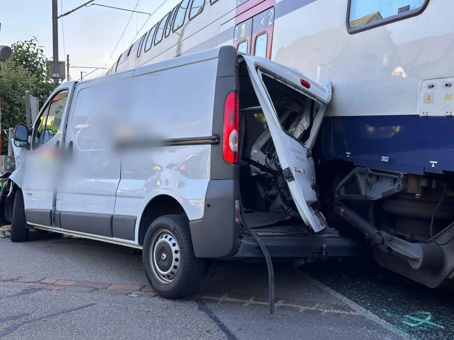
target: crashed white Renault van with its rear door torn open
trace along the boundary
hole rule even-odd
[[[16,127],[11,240],[37,228],[143,249],[166,298],[193,292],[207,258],[263,257],[253,234],[271,257],[349,256],[311,157],[330,97],[231,46],[64,83]]]

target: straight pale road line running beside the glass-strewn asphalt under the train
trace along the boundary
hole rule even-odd
[[[306,279],[307,281],[309,281],[311,284],[317,286],[318,288],[320,288],[320,289],[324,290],[325,292],[331,294],[335,298],[341,300],[347,306],[349,306],[352,309],[354,309],[355,311],[357,311],[359,314],[364,315],[366,318],[374,321],[375,323],[378,323],[380,326],[386,328],[387,330],[389,330],[390,332],[394,333],[395,335],[401,336],[401,337],[403,337],[406,340],[413,340],[414,339],[414,337],[411,336],[410,334],[408,334],[408,333],[406,333],[406,332],[404,332],[402,330],[396,329],[389,322],[381,319],[379,316],[377,316],[374,313],[368,311],[367,309],[361,307],[357,303],[355,303],[352,300],[346,298],[344,295],[342,295],[340,293],[337,293],[333,289],[331,289],[328,286],[322,284],[320,281],[315,280],[314,278],[310,277],[309,275],[307,275],[305,273],[302,273],[302,277],[304,279]]]

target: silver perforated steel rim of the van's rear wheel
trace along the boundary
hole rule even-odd
[[[151,240],[149,260],[154,278],[161,284],[175,280],[181,264],[181,252],[175,235],[162,229]]]

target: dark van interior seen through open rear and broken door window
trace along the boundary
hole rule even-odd
[[[269,98],[287,134],[305,147],[317,103],[271,76],[262,74]],[[276,77],[277,78],[277,77]],[[240,188],[244,218],[251,228],[307,233],[289,191],[265,116],[245,62],[240,61]],[[290,229],[289,229],[290,228]]]

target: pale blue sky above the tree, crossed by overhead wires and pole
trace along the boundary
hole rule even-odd
[[[58,0],[59,15],[88,0]],[[96,0],[94,4],[120,7],[153,13],[136,14],[100,6],[83,7],[59,19],[59,58],[70,55],[72,66],[110,67],[131,42],[141,37],[154,23],[179,3],[180,0]],[[162,5],[162,6],[161,6]],[[132,18],[131,18],[131,15]],[[129,25],[128,20],[131,18]],[[0,45],[11,45],[19,40],[36,37],[44,47],[44,54],[52,57],[51,0],[0,0]],[[145,24],[145,26],[143,26]],[[143,27],[143,28],[142,28]],[[126,30],[125,30],[126,28]],[[125,33],[123,31],[125,30]],[[120,42],[119,42],[120,41]],[[115,46],[118,44],[118,47]],[[92,69],[72,67],[71,79],[80,79],[80,72]],[[103,75],[98,70],[87,78]],[[85,75],[85,74],[84,74]]]

